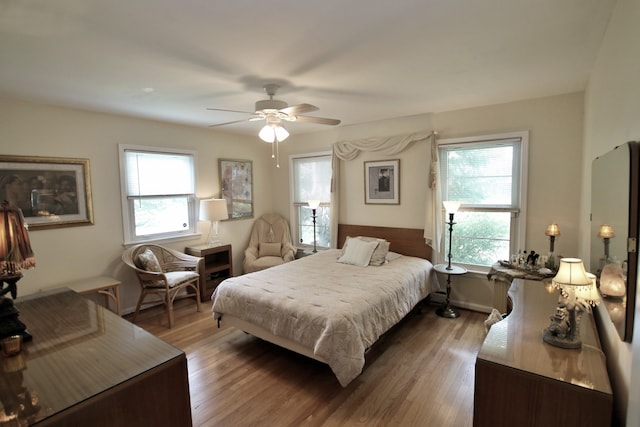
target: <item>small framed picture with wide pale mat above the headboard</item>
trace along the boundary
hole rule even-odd
[[[400,159],[364,162],[364,202],[400,204]]]

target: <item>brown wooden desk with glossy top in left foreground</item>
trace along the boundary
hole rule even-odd
[[[26,389],[38,399],[23,415],[28,424],[191,426],[182,351],[68,289],[18,298],[16,307],[33,340],[0,358],[5,411]]]

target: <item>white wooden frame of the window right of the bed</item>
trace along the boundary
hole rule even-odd
[[[459,212],[511,212],[511,224],[510,224],[510,236],[509,236],[509,254],[517,253],[518,249],[524,249],[526,242],[526,227],[527,227],[527,185],[528,185],[528,148],[529,148],[529,131],[517,131],[517,132],[505,132],[491,135],[471,136],[463,138],[443,138],[438,140],[438,158],[442,158],[443,149],[447,146],[455,147],[460,145],[479,145],[487,144],[491,142],[498,143],[499,141],[516,140],[519,139],[519,173],[517,174],[518,183],[512,187],[512,203],[515,205],[470,205],[462,203]],[[516,156],[514,156],[514,163],[516,162]],[[442,164],[440,166],[442,168]],[[512,170],[513,170],[512,166]],[[441,196],[442,200],[446,199],[446,177],[442,177],[441,170],[438,172],[441,175]],[[515,176],[515,173],[514,173]],[[516,193],[517,194],[514,194]],[[447,257],[447,249],[445,247],[445,240],[448,238],[448,227],[446,222],[449,220],[446,216],[446,212],[441,207],[441,214],[443,219],[443,238],[440,242],[440,252],[444,254],[445,259]],[[455,217],[454,217],[455,222]],[[455,226],[453,229],[455,233]],[[495,262],[498,262],[496,259]],[[468,264],[455,262],[455,255],[453,256],[452,263],[465,267],[469,271],[475,271],[480,273],[488,273],[491,266]]]

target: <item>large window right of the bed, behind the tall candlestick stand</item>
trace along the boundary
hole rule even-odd
[[[439,142],[442,200],[455,214],[452,260],[484,271],[524,244],[528,132]],[[449,221],[447,217],[445,222]],[[444,227],[448,252],[449,232]]]

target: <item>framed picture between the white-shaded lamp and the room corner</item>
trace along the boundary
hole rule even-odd
[[[253,218],[253,162],[218,159],[220,196],[227,201],[229,219]]]

